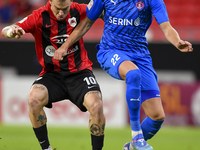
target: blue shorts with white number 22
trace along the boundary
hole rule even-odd
[[[97,46],[99,50],[99,47]],[[113,78],[122,80],[119,75],[119,66],[123,61],[132,61],[141,72],[141,101],[153,97],[160,97],[157,83],[157,74],[152,65],[150,55],[140,57],[137,54],[122,50],[99,50],[97,60],[104,71]]]

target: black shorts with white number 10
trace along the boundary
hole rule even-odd
[[[85,94],[89,91],[100,91],[93,72],[88,69],[67,75],[56,71],[47,72],[33,84],[43,84],[48,89],[49,102],[45,107],[52,108],[52,103],[70,100],[83,112],[87,111],[83,106]]]

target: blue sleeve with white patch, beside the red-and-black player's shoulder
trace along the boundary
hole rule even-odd
[[[101,0],[90,0],[86,12],[87,12],[87,17],[95,21],[99,18],[103,11],[103,2]]]

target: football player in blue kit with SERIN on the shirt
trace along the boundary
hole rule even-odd
[[[97,45],[97,60],[112,77],[124,80],[129,109],[132,141],[124,150],[152,150],[147,144],[161,128],[165,118],[157,75],[147,48],[146,31],[152,16],[166,39],[181,52],[192,52],[192,44],[180,39],[170,25],[163,0],[91,0],[87,17],[75,28],[67,41],[54,54],[62,60],[68,48],[81,38],[94,21],[104,13],[104,32]],[[140,124],[140,106],[147,117]]]

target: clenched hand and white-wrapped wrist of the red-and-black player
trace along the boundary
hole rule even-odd
[[[5,36],[6,38],[19,39],[21,38],[22,35],[25,34],[25,31],[18,25],[13,24],[13,25],[6,26],[5,28],[3,28],[1,34]]]

